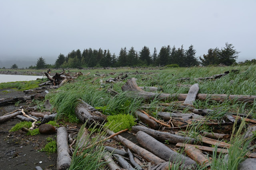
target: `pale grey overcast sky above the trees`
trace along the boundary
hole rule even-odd
[[[0,25],[0,67],[89,47],[192,44],[200,56],[226,42],[238,61],[256,58],[256,0],[0,0]]]

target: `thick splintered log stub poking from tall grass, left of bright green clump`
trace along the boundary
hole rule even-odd
[[[82,123],[85,123],[87,121],[87,124],[90,126],[92,123],[99,122],[103,123],[106,119],[105,115],[102,115],[99,111],[97,111],[94,107],[90,106],[83,100],[81,100],[82,103],[78,104],[75,109],[76,117]]]

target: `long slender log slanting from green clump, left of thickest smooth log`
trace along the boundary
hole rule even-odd
[[[107,133],[109,135],[113,135],[114,132],[110,131],[109,129],[107,129]],[[142,158],[144,158],[146,161],[148,162],[152,162],[154,164],[160,164],[162,162],[165,162],[164,160],[162,160],[161,158],[159,158],[158,156],[152,154],[151,152],[149,152],[148,150],[139,147],[138,145],[132,143],[131,141],[129,141],[128,139],[117,135],[115,137],[112,137],[114,140],[122,143],[122,145],[124,145],[124,147],[130,149],[132,152],[138,154],[139,156],[141,156]]]

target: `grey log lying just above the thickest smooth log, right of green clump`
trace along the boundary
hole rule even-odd
[[[182,137],[178,135],[174,135],[168,132],[161,132],[161,131],[155,131],[153,129],[143,127],[143,126],[133,126],[132,131],[134,133],[137,133],[138,131],[143,131],[147,133],[148,135],[154,137],[158,141],[166,142],[176,144],[176,143],[194,143],[195,139],[190,137]]]

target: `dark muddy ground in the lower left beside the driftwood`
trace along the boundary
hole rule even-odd
[[[9,92],[0,91],[0,98],[13,98],[23,96],[24,93],[20,91],[10,90]],[[26,103],[20,103],[19,106],[4,106],[0,107],[0,116],[12,112],[20,106],[25,106]],[[48,155],[46,152],[41,152],[46,145],[46,138],[52,137],[56,139],[55,135],[36,135],[28,136],[26,133],[20,131],[9,132],[9,130],[19,123],[17,119],[9,120],[0,124],[0,169],[4,170],[33,170],[36,166],[43,169],[55,170],[57,154]],[[42,161],[42,163],[40,163]]]

